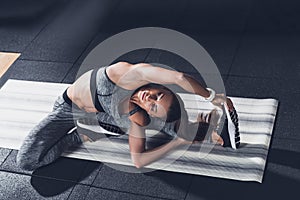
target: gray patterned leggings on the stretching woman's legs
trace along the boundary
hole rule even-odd
[[[55,101],[53,110],[26,136],[17,154],[17,164],[25,170],[35,170],[38,167],[55,161],[71,146],[82,144],[75,127],[75,120],[83,118],[97,118],[98,121],[117,126],[113,117],[104,112],[87,113],[72,108],[62,96]],[[154,127],[161,127],[159,121]],[[70,132],[71,131],[71,132]],[[174,124],[168,123],[163,127],[164,133],[174,136]]]

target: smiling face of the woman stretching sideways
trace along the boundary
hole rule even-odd
[[[163,88],[145,88],[137,93],[139,106],[150,116],[165,118],[172,103],[170,91]]]

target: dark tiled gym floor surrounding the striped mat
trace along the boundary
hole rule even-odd
[[[1,78],[74,81],[98,43],[145,26],[180,31],[211,55],[230,96],[280,101],[262,184],[155,171],[129,174],[60,158],[34,172],[0,148],[0,199],[294,199],[300,186],[300,3],[297,0],[24,0],[0,3],[0,51],[21,57]],[[116,47],[118,48],[118,47]],[[142,49],[119,60],[188,64]],[[185,65],[186,64],[186,65]],[[298,198],[297,198],[298,199]]]

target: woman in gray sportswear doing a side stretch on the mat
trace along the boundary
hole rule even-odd
[[[70,146],[93,139],[93,134],[79,134],[74,129],[74,120],[95,116],[100,122],[128,131],[130,153],[137,168],[161,158],[177,146],[190,144],[192,141],[180,137],[188,126],[186,114],[180,111],[176,95],[161,86],[163,84],[176,84],[217,106],[225,99],[184,73],[150,64],[118,62],[97,68],[79,77],[56,100],[53,111],[29,133],[18,152],[18,165],[26,170],[36,169],[53,162]],[[231,102],[227,102],[229,110],[232,109]],[[164,119],[171,124],[166,131],[175,130],[179,137],[147,150],[145,129],[151,124],[151,118]],[[215,131],[212,136],[216,142],[223,143]]]

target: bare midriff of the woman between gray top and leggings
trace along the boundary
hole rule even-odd
[[[68,97],[80,109],[86,112],[98,112],[92,101],[90,78],[92,70],[84,73],[67,90]]]

